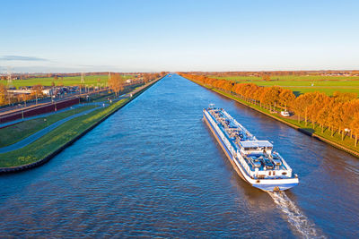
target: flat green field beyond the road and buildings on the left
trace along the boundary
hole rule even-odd
[[[133,78],[133,75],[125,75],[124,78],[129,79]],[[88,86],[97,86],[97,84],[103,84],[105,86],[109,79],[108,75],[88,75],[84,76],[84,84]],[[50,86],[52,82],[55,82],[55,85],[64,85],[64,86],[72,86],[72,85],[79,85],[81,83],[81,76],[69,76],[58,77],[57,80],[54,77],[41,77],[41,78],[31,78],[26,80],[13,80],[13,86],[16,88],[23,87],[23,86],[32,86],[41,84],[43,86]],[[6,85],[7,81],[0,81],[0,83]]]

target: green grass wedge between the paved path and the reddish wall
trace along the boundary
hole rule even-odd
[[[70,115],[83,112],[84,110],[89,110],[93,107],[95,106],[74,108],[58,114],[48,115],[47,117],[39,117],[0,129],[0,147],[11,145],[17,141],[22,141],[31,134],[42,130],[50,124],[54,124],[55,122]],[[44,119],[46,119],[46,122]]]

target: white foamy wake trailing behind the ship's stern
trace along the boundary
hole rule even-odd
[[[302,213],[293,201],[285,194],[285,192],[268,192],[276,203],[276,207],[280,209],[288,220],[303,238],[326,238],[315,228],[315,225]]]

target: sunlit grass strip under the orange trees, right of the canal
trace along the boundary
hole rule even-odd
[[[234,99],[236,101],[239,101],[243,105],[252,107],[252,108],[258,110],[259,112],[263,112],[266,115],[271,115],[272,117],[278,119],[279,121],[286,122],[286,123],[288,123],[290,125],[293,125],[295,127],[301,128],[301,129],[305,130],[306,132],[310,132],[313,135],[318,135],[320,137],[323,137],[324,139],[326,139],[328,141],[331,141],[331,142],[334,142],[334,143],[336,143],[338,145],[341,145],[341,146],[345,147],[346,149],[351,149],[351,150],[354,150],[355,152],[359,152],[359,146],[355,147],[355,140],[350,138],[348,135],[346,135],[344,141],[342,141],[341,140],[341,135],[338,134],[338,133],[335,133],[334,136],[332,137],[331,132],[328,131],[328,129],[326,129],[324,132],[321,132],[321,128],[318,125],[315,125],[315,127],[313,129],[312,124],[308,124],[306,126],[303,121],[298,123],[298,120],[285,118],[285,117],[282,117],[281,115],[278,115],[278,114],[272,114],[266,108],[259,107],[258,105],[246,102],[246,101],[242,100],[241,98],[235,97],[232,94],[224,92],[223,90],[217,90],[217,89],[215,89],[213,87],[206,86],[206,85],[204,85],[203,83],[201,83],[199,81],[195,81],[195,82],[197,82],[197,84],[199,84],[199,85],[202,85],[202,86],[206,87],[209,90],[214,90],[215,92],[217,92],[219,94],[222,94],[223,96],[226,96],[228,98],[232,98],[232,99]]]

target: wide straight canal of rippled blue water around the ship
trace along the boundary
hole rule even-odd
[[[272,141],[300,184],[274,194],[244,183],[202,120],[209,103]],[[0,187],[1,237],[359,235],[358,158],[178,75]]]

